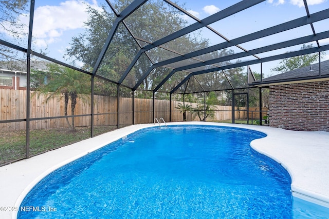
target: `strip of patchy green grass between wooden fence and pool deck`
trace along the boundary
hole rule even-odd
[[[94,136],[116,129],[116,126],[97,126]],[[30,155],[66,146],[90,137],[90,127],[68,129],[38,129],[30,131]],[[25,155],[26,132],[0,132],[0,165],[20,160]]]

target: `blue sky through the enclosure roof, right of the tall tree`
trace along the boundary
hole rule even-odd
[[[183,3],[184,0],[178,0],[178,4]],[[185,5],[187,10],[198,17],[203,19],[213,13],[221,11],[229,6],[238,3],[240,1],[188,1],[188,4]],[[309,12],[315,13],[323,9],[329,8],[329,1],[327,0],[307,0],[307,5]],[[220,22],[216,22],[210,25],[212,28],[216,29],[218,32],[223,34],[229,39],[234,39],[240,36],[247,35],[265,28],[279,25],[280,23],[288,22],[293,19],[306,16],[306,10],[304,8],[303,0],[268,0],[262,4],[246,9],[243,12],[239,12],[236,15],[230,18],[224,18]],[[316,32],[322,32],[328,30],[329,20],[318,22],[314,24]],[[288,33],[288,34],[287,34]],[[273,43],[279,43],[284,40],[289,40],[293,38],[298,38],[306,35],[312,35],[312,28],[308,25],[305,27],[297,28],[287,33],[276,34],[269,37],[264,37],[250,43],[245,43],[240,46],[247,50],[254,48],[259,48],[262,46],[267,46]],[[289,35],[289,37],[287,37]],[[218,37],[214,37],[213,34],[209,34],[210,38],[213,39],[211,43],[213,45],[221,43],[218,41]],[[320,42],[320,45],[329,44],[329,39],[323,40]],[[276,55],[282,52],[287,51],[296,51],[300,50],[302,45],[287,48],[285,50],[278,50],[272,55]],[[316,46],[316,43],[313,43],[313,46]],[[231,48],[235,52],[241,52],[242,50]],[[266,53],[264,55],[268,55]],[[262,55],[259,55],[263,57]],[[322,61],[329,59],[329,54],[326,52],[326,55],[322,58]],[[247,59],[250,60],[250,59]],[[266,76],[278,74],[279,72],[273,72],[271,69],[279,65],[279,61],[273,61],[264,63],[262,66],[262,71],[265,72]],[[251,66],[251,69],[261,72],[260,65]]]

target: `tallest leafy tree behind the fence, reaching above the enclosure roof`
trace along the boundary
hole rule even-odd
[[[130,3],[131,1],[127,0],[116,0],[113,5],[120,12]],[[85,64],[86,68],[92,69],[116,16],[106,6],[102,6],[102,10],[89,7],[88,14],[89,18],[85,23],[86,32],[72,38],[71,47],[66,50],[66,55],[68,57],[76,57]],[[136,37],[145,39],[147,42],[154,42],[166,34],[169,35],[187,25],[187,21],[180,16],[179,11],[173,7],[167,7],[167,3],[163,1],[149,1],[145,3],[141,9],[132,13],[124,22]],[[146,45],[145,43],[140,44],[141,47]],[[175,50],[180,48],[180,53],[191,52],[192,49],[205,48],[206,46],[208,46],[208,40],[201,38],[197,33],[187,34],[177,38],[174,43],[169,42],[166,44],[166,48],[169,49]],[[140,46],[131,36],[131,33],[124,25],[119,25],[100,64],[97,75],[118,82],[139,50]],[[148,71],[152,63],[171,57],[173,57],[172,52],[158,47],[143,53],[122,84],[129,87],[135,86],[145,72]],[[168,68],[157,68],[143,80],[139,88],[144,90],[154,88],[154,85],[168,73]],[[171,85],[166,84],[164,87],[164,90],[168,91]]]

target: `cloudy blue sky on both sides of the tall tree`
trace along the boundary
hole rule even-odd
[[[111,0],[110,2],[112,2]],[[131,0],[132,1],[132,0]],[[82,2],[84,2],[82,4]],[[174,2],[174,1],[173,1]],[[187,3],[186,3],[187,2]],[[199,19],[203,19],[218,11],[238,3],[240,1],[217,1],[217,0],[178,0],[176,3],[188,10],[191,14]],[[32,50],[47,52],[50,57],[63,61],[65,49],[69,47],[69,42],[73,36],[83,33],[83,23],[88,16],[86,11],[87,5],[99,9],[100,5],[104,4],[104,0],[36,0],[34,11],[34,26],[33,26],[33,45]],[[310,13],[329,8],[329,0],[307,0]],[[210,26],[216,29],[229,39],[234,39],[249,33],[272,27],[283,22],[291,21],[292,19],[305,16],[306,11],[303,7],[303,0],[267,0],[250,9],[236,13],[234,16],[224,18],[219,22]],[[195,21],[186,15],[181,15],[182,18],[192,24]],[[21,21],[28,23],[28,17],[20,17]],[[327,19],[328,20],[328,19]],[[328,30],[329,21],[318,22],[315,25],[317,32]],[[4,30],[0,29],[0,32]],[[210,45],[215,45],[224,42],[224,40],[206,28],[200,30],[204,38],[209,38]],[[287,39],[301,37],[312,34],[310,27],[303,27],[289,32]],[[277,34],[272,37],[265,37],[256,41],[241,45],[243,48],[250,50],[261,46],[266,46],[272,43],[279,43],[286,39],[287,34]],[[321,45],[326,45],[329,40],[322,41]],[[25,45],[22,45],[25,47]],[[290,50],[299,50],[299,48],[291,48]],[[240,49],[230,48],[235,52],[240,52]],[[329,52],[327,52],[329,53]],[[267,55],[267,54],[264,54]],[[262,57],[262,56],[261,56]],[[326,54],[325,59],[329,59],[329,54]],[[70,60],[65,62],[71,62]],[[79,63],[76,63],[79,66]],[[263,71],[269,72],[270,68],[278,65],[269,63],[263,66]],[[259,67],[256,67],[258,70]],[[266,70],[264,70],[266,69]]]

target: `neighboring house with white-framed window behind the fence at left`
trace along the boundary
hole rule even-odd
[[[31,68],[46,71],[46,61],[31,61]],[[47,78],[44,79],[47,81]],[[0,62],[0,89],[26,90],[26,64],[19,61]]]

